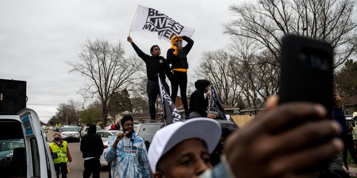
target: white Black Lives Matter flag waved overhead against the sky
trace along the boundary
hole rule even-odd
[[[192,37],[195,29],[185,27],[155,9],[139,5],[135,21],[130,31],[157,33],[160,40],[163,38],[171,42],[171,37],[174,35]]]

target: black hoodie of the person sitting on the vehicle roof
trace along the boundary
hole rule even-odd
[[[197,80],[195,82],[195,87],[197,90],[193,91],[190,99],[190,112],[198,112],[203,117],[207,117],[207,106],[208,106],[208,98],[205,99],[203,90],[207,86],[207,80]],[[206,84],[205,84],[206,83]],[[209,83],[208,83],[209,85]]]

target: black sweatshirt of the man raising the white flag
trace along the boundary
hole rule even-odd
[[[144,52],[141,51],[139,47],[135,45],[135,43],[131,43],[133,46],[135,52],[137,55],[144,60],[146,64],[146,75],[147,79],[149,80],[155,80],[158,81],[157,79],[157,73],[160,74],[160,79],[165,81],[166,76],[170,79],[171,76],[171,69],[169,63],[167,63],[166,59],[162,56],[159,57],[154,57],[154,56],[149,56],[145,54]]]

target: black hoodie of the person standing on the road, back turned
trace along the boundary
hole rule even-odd
[[[96,132],[97,127],[94,124],[91,124],[88,128],[87,135],[83,136],[80,148],[81,152],[83,153],[83,158],[100,158],[100,156],[103,154],[103,141],[99,135],[96,135]]]

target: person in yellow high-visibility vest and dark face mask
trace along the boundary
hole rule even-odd
[[[62,178],[66,178],[68,173],[67,161],[71,162],[72,157],[69,153],[67,142],[61,139],[61,135],[59,133],[54,133],[53,137],[54,139],[50,144],[50,152],[57,153],[57,158],[53,159],[56,176],[57,178],[59,178],[61,168]]]

